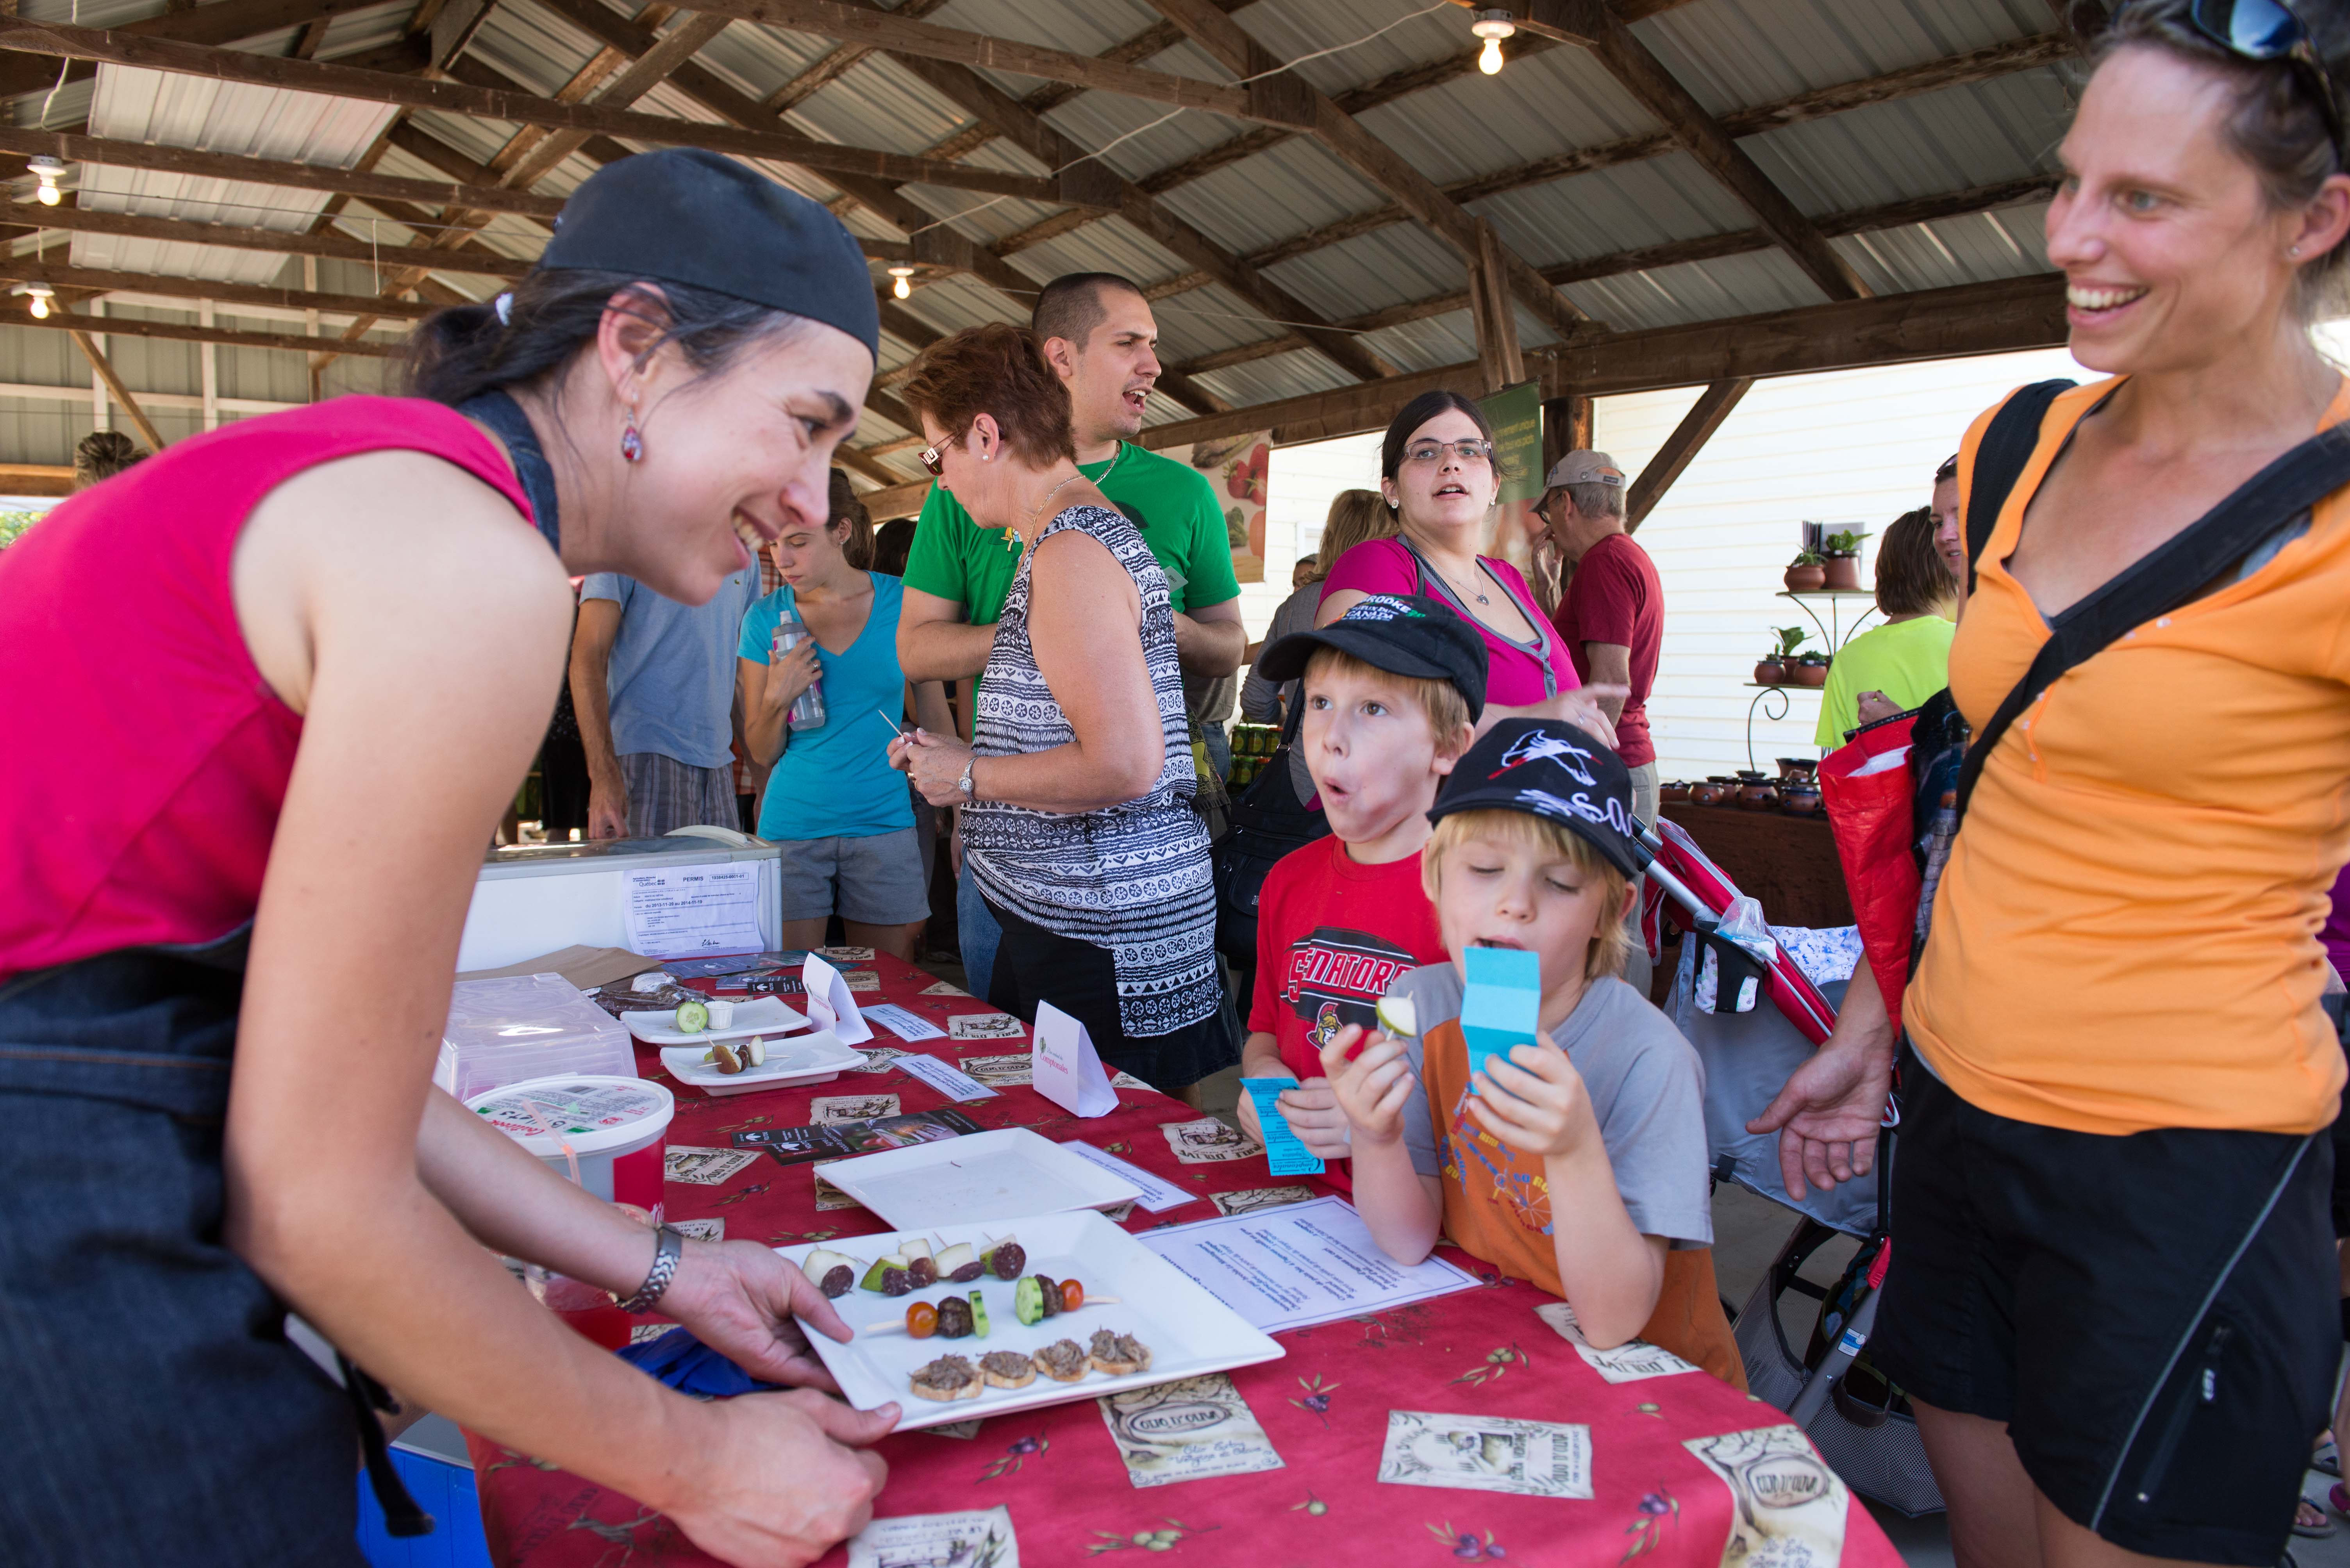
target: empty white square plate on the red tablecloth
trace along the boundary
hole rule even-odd
[[[1114,1209],[1142,1197],[1123,1176],[1086,1164],[1027,1127],[839,1160],[825,1167],[825,1181],[902,1230]]]

